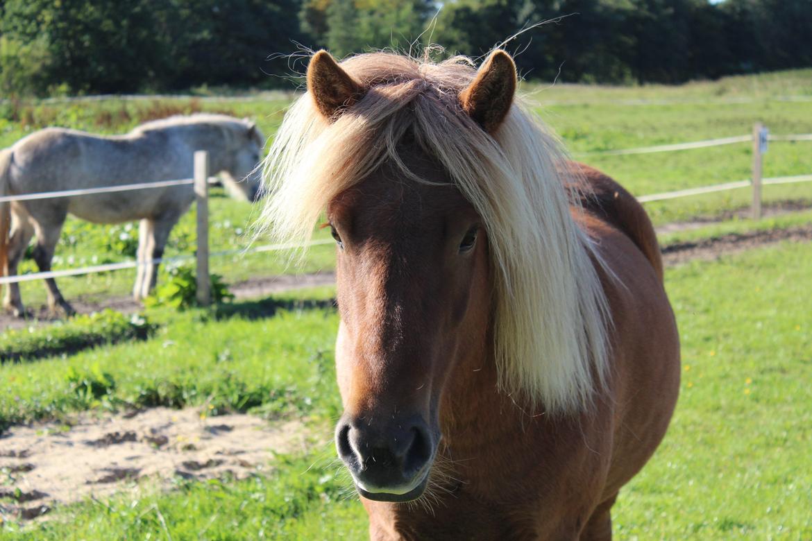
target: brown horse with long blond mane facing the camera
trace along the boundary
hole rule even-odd
[[[335,439],[374,539],[610,539],[680,348],[649,218],[572,164],[496,50],[313,56],[263,223],[337,248]]]

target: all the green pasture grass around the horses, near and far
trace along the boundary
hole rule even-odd
[[[673,88],[525,84],[525,91],[577,159],[615,176],[636,195],[748,178],[749,144],[627,157],[589,152],[743,135],[757,120],[775,134],[812,132],[812,71]],[[0,103],[0,147],[46,125],[118,133],[144,120],[197,110],[255,118],[272,136],[289,102],[279,94],[257,94]],[[765,176],[810,173],[812,142],[771,144]],[[812,204],[812,184],[765,187],[764,195],[767,202]],[[749,196],[745,189],[646,208],[663,225],[723,216],[749,204]],[[257,211],[214,188],[212,251],[244,247]],[[173,231],[166,256],[194,249],[193,214]],[[688,242],[810,221],[810,210],[762,221],[735,219],[666,232],[660,240]],[[127,259],[136,232],[137,226],[71,219],[54,268]],[[326,238],[327,232],[316,236]],[[212,271],[233,283],[334,264],[330,245],[312,248],[301,267],[289,265],[289,255],[213,259]],[[617,539],[812,538],[810,268],[812,243],[780,243],[667,269],[683,348],[681,396],[663,445],[621,492],[614,513]],[[34,270],[26,260],[24,271]],[[128,294],[132,276],[124,271],[59,283],[69,300],[92,301]],[[29,306],[44,301],[41,282],[22,286]],[[176,478],[170,492],[144,479],[117,496],[58,507],[45,520],[20,523],[0,513],[0,538],[366,539],[365,513],[335,466],[331,441],[341,410],[333,366],[334,297],[326,287],[207,310],[149,308],[144,314],[156,330],[145,340],[0,364],[0,433],[11,424],[44,420],[57,423],[49,430],[69,430],[80,412],[194,406],[201,415],[246,412],[271,425],[296,420],[308,441],[305,453],[269,456],[272,469],[251,479]],[[0,507],[15,503],[13,493],[11,500],[2,496],[9,495],[2,491],[14,476],[0,469]]]

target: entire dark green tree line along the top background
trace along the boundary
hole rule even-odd
[[[300,47],[477,57],[545,20],[506,44],[530,79],[812,67],[812,0],[0,0],[0,92],[292,88]]]

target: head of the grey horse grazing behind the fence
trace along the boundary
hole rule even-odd
[[[235,136],[229,143],[229,166],[222,173],[223,187],[231,195],[256,201],[261,196],[262,170],[261,152],[265,136],[255,122],[245,118],[235,128]]]

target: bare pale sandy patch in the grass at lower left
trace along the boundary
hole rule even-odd
[[[105,496],[147,477],[166,486],[174,476],[244,479],[268,470],[273,453],[304,448],[298,421],[201,411],[81,414],[70,427],[11,427],[0,438],[0,517],[40,517],[54,505]]]

